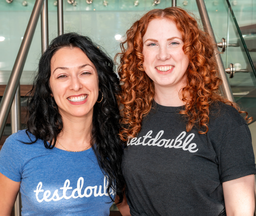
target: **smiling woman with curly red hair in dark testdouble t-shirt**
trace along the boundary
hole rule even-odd
[[[253,215],[251,118],[220,96],[215,49],[177,7],[127,30],[117,57],[132,215]]]

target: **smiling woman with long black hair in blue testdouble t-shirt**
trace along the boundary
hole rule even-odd
[[[122,146],[113,61],[76,33],[44,52],[28,102],[27,129],[0,152],[0,211],[20,190],[22,215],[109,215],[123,200]]]

